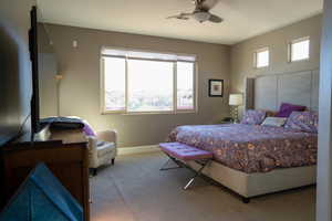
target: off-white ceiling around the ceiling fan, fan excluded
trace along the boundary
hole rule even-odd
[[[45,22],[136,34],[234,44],[315,15],[323,0],[220,0],[222,23],[167,20],[191,0],[38,0]]]

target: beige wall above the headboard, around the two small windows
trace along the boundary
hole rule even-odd
[[[231,48],[231,91],[243,92],[246,76],[279,74],[319,69],[321,15],[317,15],[286,28],[246,40]],[[288,44],[291,40],[310,36],[310,60],[288,62]],[[269,46],[270,66],[253,67],[253,52]]]

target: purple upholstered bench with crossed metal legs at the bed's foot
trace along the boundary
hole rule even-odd
[[[180,161],[196,161],[200,165],[200,168],[196,171],[195,176],[189,180],[184,189],[187,189],[194,182],[195,178],[201,175],[203,169],[214,157],[212,152],[180,143],[163,143],[159,144],[159,147],[169,157],[160,170],[181,168],[183,164],[179,164]],[[178,167],[165,168],[169,160],[176,162]]]

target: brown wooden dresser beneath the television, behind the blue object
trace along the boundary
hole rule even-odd
[[[49,130],[43,141],[21,138],[2,148],[3,201],[15,192],[32,168],[45,162],[62,185],[82,204],[90,220],[89,150],[82,130]]]

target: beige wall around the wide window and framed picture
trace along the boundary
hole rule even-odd
[[[154,145],[177,125],[212,124],[228,115],[226,98],[208,97],[208,80],[224,78],[229,85],[229,46],[191,41],[49,25],[61,83],[61,115],[77,115],[100,129],[118,130],[120,146]],[[79,48],[72,46],[76,40]],[[101,115],[100,50],[121,46],[196,54],[198,56],[198,113],[177,115]],[[226,93],[227,94],[227,93]],[[227,97],[227,96],[225,96]],[[51,101],[52,102],[52,101]]]

